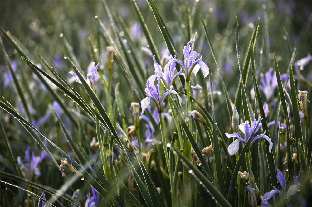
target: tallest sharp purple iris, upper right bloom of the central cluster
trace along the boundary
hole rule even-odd
[[[202,61],[202,56],[200,56],[198,60],[195,60],[198,57],[199,53],[191,50],[190,45],[193,41],[194,40],[191,38],[188,44],[184,46],[183,49],[184,63],[181,60],[175,59],[176,56],[172,57],[171,55],[171,60],[173,60],[174,62],[178,63],[181,66],[187,80],[190,79],[192,72],[196,75],[199,69],[202,70],[204,77],[206,77],[209,74],[209,68]]]

